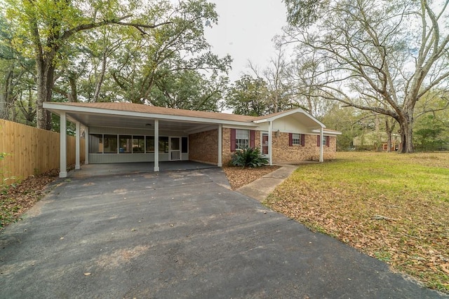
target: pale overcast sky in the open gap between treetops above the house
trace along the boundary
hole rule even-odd
[[[231,55],[231,81],[240,78],[248,60],[263,69],[274,56],[274,35],[286,25],[286,7],[281,0],[210,0],[217,4],[218,25],[206,27],[213,53]]]

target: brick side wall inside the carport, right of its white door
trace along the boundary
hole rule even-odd
[[[217,165],[218,130],[189,134],[189,160]]]

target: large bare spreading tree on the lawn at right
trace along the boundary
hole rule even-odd
[[[312,75],[321,80],[311,84],[327,99],[394,118],[402,152],[412,153],[415,105],[431,90],[448,91],[449,0],[319,1],[326,5],[304,20],[300,6],[313,2],[286,1],[287,42],[321,58]]]

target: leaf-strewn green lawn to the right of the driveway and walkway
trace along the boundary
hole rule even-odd
[[[265,204],[449,293],[449,153],[337,153]]]

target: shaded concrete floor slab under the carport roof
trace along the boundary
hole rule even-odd
[[[206,169],[217,167],[196,161],[162,161],[159,162],[159,171],[176,171]],[[154,172],[154,162],[123,162],[123,163],[101,163],[82,165],[81,169],[69,172],[69,178],[83,178],[88,176],[107,176],[116,174],[141,174]]]

